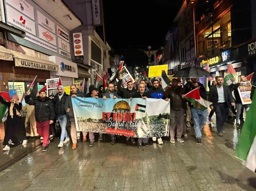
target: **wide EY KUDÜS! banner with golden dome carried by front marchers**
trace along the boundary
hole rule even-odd
[[[168,136],[170,104],[163,99],[72,98],[78,131],[127,137]]]

